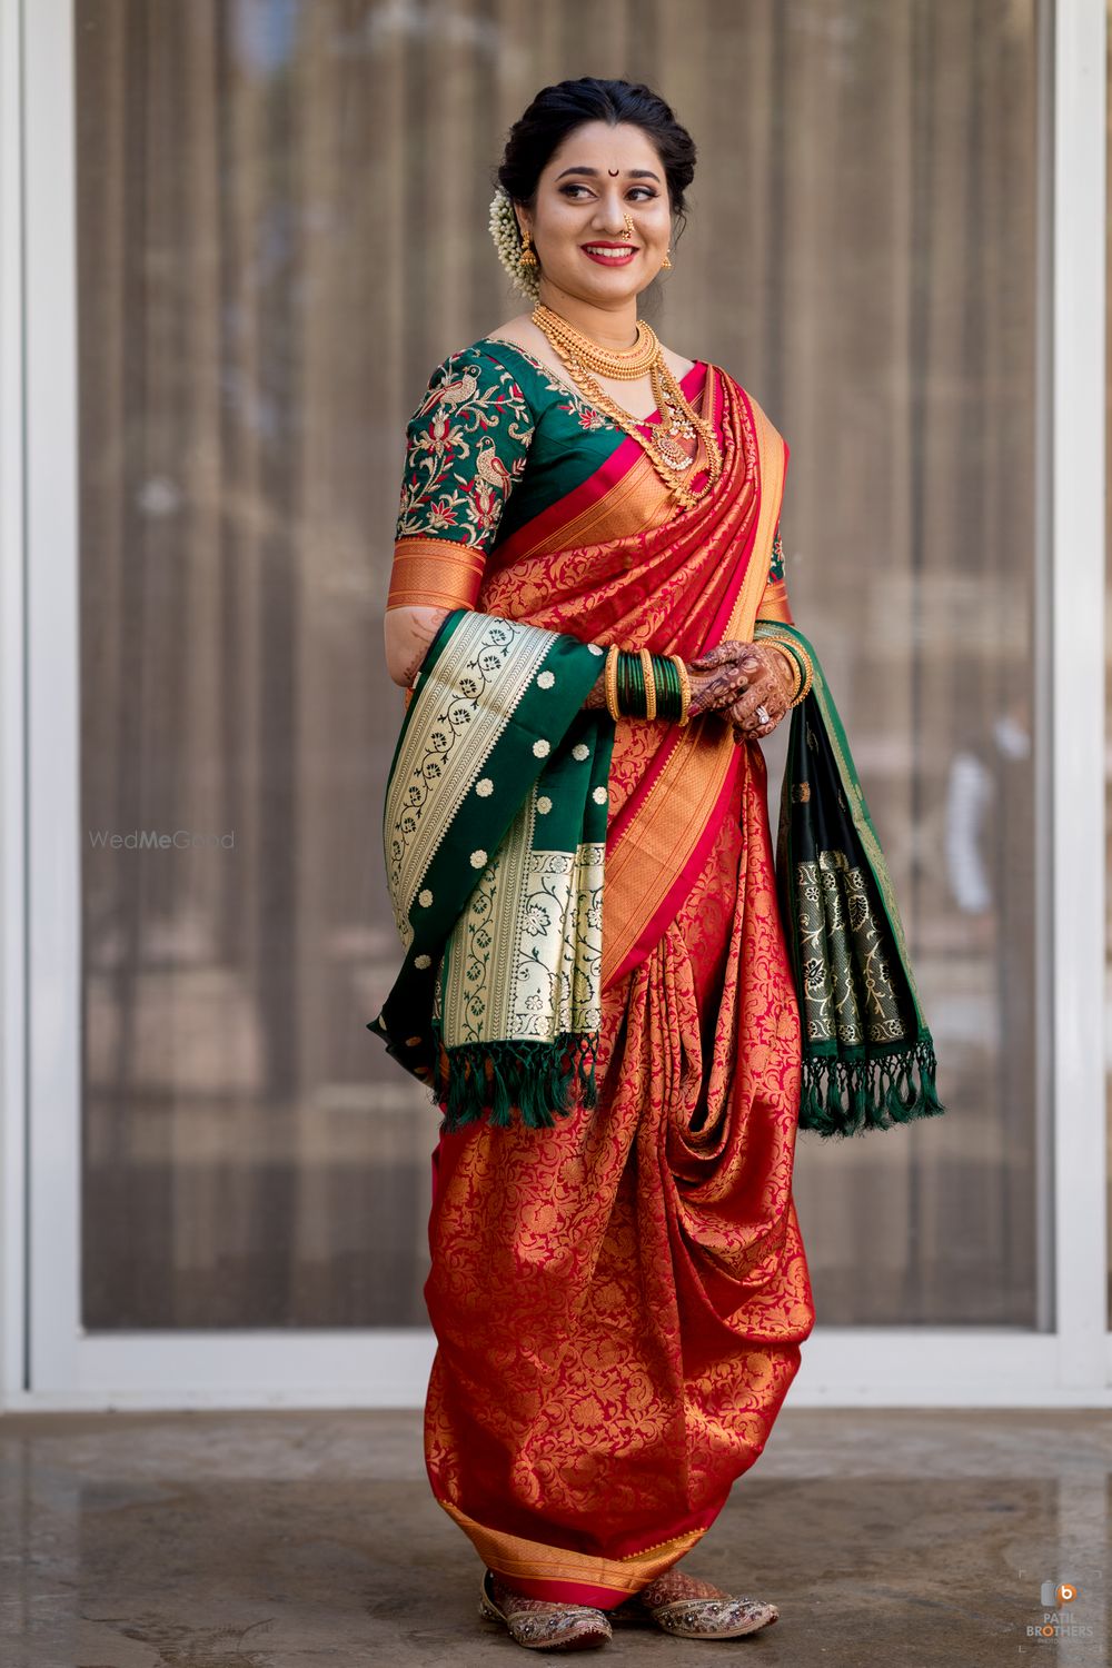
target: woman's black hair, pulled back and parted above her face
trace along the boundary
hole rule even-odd
[[[677,122],[660,93],[642,82],[602,82],[594,75],[582,75],[577,82],[542,87],[510,128],[495,182],[532,214],[537,180],[545,165],[567,135],[585,122],[609,122],[610,127],[629,122],[649,135],[660,157],[669,202],[680,217],[682,230],[687,224],[684,192],[695,177],[695,140]]]

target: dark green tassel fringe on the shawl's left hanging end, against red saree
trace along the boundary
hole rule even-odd
[[[485,1119],[497,1129],[510,1129],[513,1123],[552,1129],[557,1118],[567,1118],[579,1104],[599,1104],[597,1049],[597,1031],[565,1032],[555,1042],[498,1039],[438,1046],[440,1128],[452,1133]]]

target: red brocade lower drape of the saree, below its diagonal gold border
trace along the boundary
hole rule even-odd
[[[799,1009],[759,749],[654,952],[604,994],[599,1106],[435,1154],[425,1451],[480,1556],[615,1605],[707,1531],[814,1326]]]

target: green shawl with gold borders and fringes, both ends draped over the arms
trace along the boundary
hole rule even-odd
[[[819,657],[792,712],[777,887],[802,1017],[800,1128],[890,1129],[944,1111],[899,909]],[[604,651],[455,609],[390,766],[383,846],[405,962],[377,1032],[443,1106],[532,1128],[597,1104],[614,722],[584,711]]]

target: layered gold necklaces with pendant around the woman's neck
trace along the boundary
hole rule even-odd
[[[632,435],[650,464],[672,490],[672,497],[685,509],[699,504],[719,480],[722,474],[722,450],[714,432],[714,422],[700,417],[694,409],[674,372],[664,359],[664,350],[655,330],[644,319],[637,320],[637,340],[632,347],[605,349],[592,342],[589,335],[577,330],[560,314],[537,302],[532,314],[533,324],[543,330],[552,349],[567,365],[575,385],[600,410],[612,417],[629,435]],[[594,372],[594,375],[592,375]],[[632,382],[649,372],[652,394],[660,412],[660,422],[654,424],[645,435],[644,419],[634,417],[617,400],[595,382],[595,377],[614,377]],[[684,450],[682,440],[694,440],[694,454]],[[707,480],[695,492],[684,479],[690,475],[702,452],[705,455]]]

